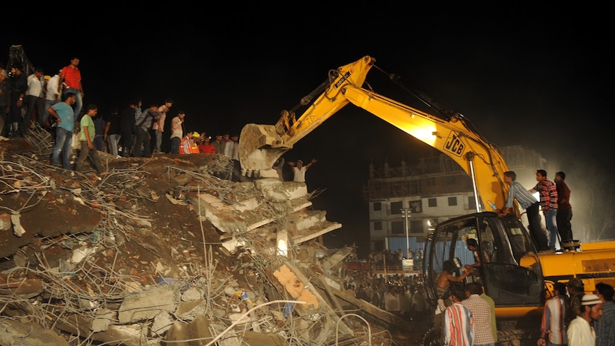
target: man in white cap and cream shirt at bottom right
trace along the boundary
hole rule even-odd
[[[594,346],[596,333],[590,323],[602,316],[602,300],[597,295],[581,298],[581,315],[576,316],[568,326],[568,346]]]

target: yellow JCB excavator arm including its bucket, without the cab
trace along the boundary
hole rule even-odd
[[[503,180],[508,168],[497,148],[472,131],[459,114],[439,118],[362,88],[374,63],[374,58],[365,56],[330,71],[329,79],[298,105],[305,106],[320,94],[298,119],[293,111],[283,111],[275,126],[246,125],[240,135],[243,173],[270,169],[301,138],[352,103],[452,158],[473,179],[474,195],[502,208],[508,195]],[[514,210],[519,216],[517,205]]]

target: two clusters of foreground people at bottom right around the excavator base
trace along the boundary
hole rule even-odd
[[[434,327],[442,330],[444,345],[495,345],[494,301],[479,282],[451,280],[437,295]],[[587,294],[579,278],[567,285],[556,283],[554,296],[544,303],[539,332],[537,346],[615,345],[613,287],[597,283],[594,292]]]

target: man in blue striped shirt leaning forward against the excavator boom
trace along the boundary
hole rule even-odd
[[[532,236],[532,243],[534,243],[539,251],[549,250],[547,233],[544,232],[540,223],[540,203],[534,198],[534,195],[529,193],[523,185],[517,183],[515,180],[517,180],[517,173],[514,173],[514,171],[504,172],[504,183],[510,185],[510,190],[508,191],[506,205],[504,205],[504,209],[502,209],[498,216],[502,217],[510,213],[513,200],[516,199],[521,208],[524,208],[527,213],[529,234]]]

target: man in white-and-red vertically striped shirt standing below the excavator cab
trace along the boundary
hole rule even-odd
[[[474,317],[462,300],[465,292],[461,285],[451,285],[453,304],[444,310],[444,325],[442,335],[444,346],[474,345]]]

